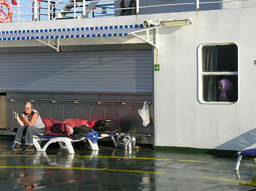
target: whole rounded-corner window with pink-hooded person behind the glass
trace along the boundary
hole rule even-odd
[[[234,104],[238,100],[238,48],[235,43],[200,45],[199,101]]]

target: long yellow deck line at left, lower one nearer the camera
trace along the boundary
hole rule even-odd
[[[95,171],[113,171],[113,172],[132,172],[163,175],[167,172],[140,171],[140,170],[124,170],[110,168],[85,168],[85,167],[47,167],[47,166],[0,166],[0,168],[49,168],[49,169],[73,169],[73,170],[95,170]]]

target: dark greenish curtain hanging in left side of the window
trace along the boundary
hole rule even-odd
[[[217,71],[217,46],[203,46],[202,48],[203,72]],[[203,100],[217,101],[216,76],[203,76]]]

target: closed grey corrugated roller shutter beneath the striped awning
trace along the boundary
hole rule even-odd
[[[0,54],[0,91],[152,93],[152,50]]]

